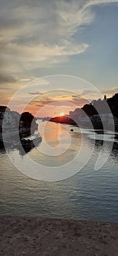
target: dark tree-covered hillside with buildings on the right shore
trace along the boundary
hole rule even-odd
[[[104,123],[107,129],[112,129],[114,124],[118,130],[118,94],[109,99],[105,95],[104,99],[93,100],[82,108],[70,111],[69,116],[84,127],[93,124],[94,129],[103,129]]]

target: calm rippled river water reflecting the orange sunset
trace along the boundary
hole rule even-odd
[[[39,121],[39,132],[45,122]],[[79,157],[76,157],[82,146],[82,158],[85,161],[87,152],[94,151],[87,165],[76,172],[74,176],[62,181],[36,181],[23,175],[10,162],[4,148],[0,148],[0,209],[1,214],[14,216],[54,217],[89,219],[118,222],[118,140],[106,164],[100,170],[95,170],[95,162],[103,145],[103,135],[90,129],[48,123],[44,129],[46,143],[52,147],[51,156],[47,150],[44,138],[37,148],[32,148],[24,154],[19,148],[9,148],[9,154],[15,161],[25,161],[28,156],[35,162],[45,166],[62,165],[66,173],[69,161],[70,171],[79,170]],[[60,156],[56,148],[62,141]],[[68,146],[68,140],[71,144]],[[114,134],[106,132],[106,148],[104,154],[109,154]],[[60,148],[58,148],[60,150]],[[52,156],[54,154],[55,156]],[[46,154],[47,153],[47,154]],[[76,160],[73,160],[76,157]],[[73,160],[73,161],[72,161]],[[27,166],[26,166],[27,168]],[[32,170],[34,171],[34,170]]]

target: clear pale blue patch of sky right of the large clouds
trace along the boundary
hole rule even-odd
[[[58,64],[53,70],[57,74],[65,72],[79,76],[99,89],[109,90],[118,87],[118,4],[99,5],[92,9],[95,13],[93,23],[74,34],[76,43],[86,42],[89,47],[84,53],[70,56],[66,64]],[[45,74],[45,69],[41,72]],[[52,68],[46,72],[51,75]]]

